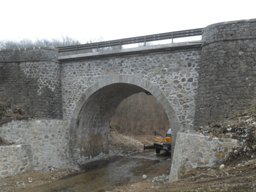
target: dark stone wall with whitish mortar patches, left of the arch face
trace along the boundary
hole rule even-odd
[[[53,54],[58,52],[0,51],[2,59],[5,57],[4,61],[0,57],[0,91],[37,118],[62,118],[61,66],[47,61]]]

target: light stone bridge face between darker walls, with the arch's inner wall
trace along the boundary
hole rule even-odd
[[[173,129],[174,147],[177,126],[172,124],[172,118],[178,117],[181,129],[193,127],[199,61],[199,50],[62,61],[63,118],[69,120],[73,114],[73,163],[86,163],[100,154],[108,154],[111,117],[122,100],[138,92],[149,91],[153,94],[149,97],[156,97],[163,105]],[[79,101],[83,97],[87,100]],[[167,108],[166,102],[171,107]],[[77,103],[81,107],[75,108]]]

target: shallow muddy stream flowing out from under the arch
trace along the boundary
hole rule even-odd
[[[34,188],[31,191],[105,191],[141,177],[147,167],[171,158],[169,153],[155,150],[139,155],[97,161],[83,166],[85,172],[69,174],[61,180]]]

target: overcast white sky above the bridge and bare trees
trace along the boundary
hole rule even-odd
[[[105,41],[203,28],[256,18],[255,0],[13,0],[1,1],[0,39],[60,38]]]

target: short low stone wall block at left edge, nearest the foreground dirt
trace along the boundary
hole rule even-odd
[[[0,146],[0,178],[33,170],[31,145]]]

